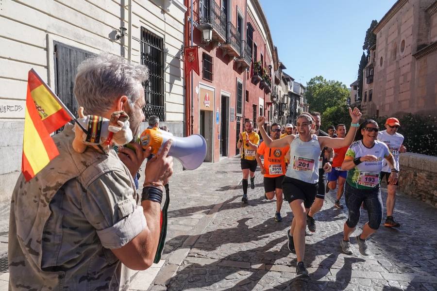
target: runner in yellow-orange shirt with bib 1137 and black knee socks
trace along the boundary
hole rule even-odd
[[[255,160],[256,150],[259,144],[259,135],[253,131],[253,123],[249,119],[244,123],[246,131],[240,132],[237,148],[241,148],[241,170],[243,171],[243,197],[241,201],[247,203],[247,187],[249,174],[251,176],[251,189],[255,189]]]

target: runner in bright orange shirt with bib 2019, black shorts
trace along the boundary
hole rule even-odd
[[[281,126],[273,123],[270,128],[270,136],[273,140],[279,139],[281,135]],[[255,159],[261,168],[261,174],[264,175],[264,197],[268,200],[276,196],[276,213],[275,220],[282,221],[282,180],[286,173],[285,155],[290,147],[268,147],[264,142],[261,143],[256,152]],[[260,156],[264,156],[264,164]]]

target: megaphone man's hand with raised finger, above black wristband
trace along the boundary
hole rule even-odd
[[[144,186],[164,187],[173,175],[173,158],[168,157],[172,140],[165,143],[162,150],[146,164]],[[161,188],[163,189],[163,188]]]

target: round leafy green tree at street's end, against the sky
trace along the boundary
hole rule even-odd
[[[349,90],[342,82],[327,81],[322,76],[316,76],[307,83],[304,97],[311,111],[323,113],[327,108],[346,104],[349,95]]]

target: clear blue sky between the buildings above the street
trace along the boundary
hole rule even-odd
[[[303,85],[321,75],[349,88],[366,31],[396,0],[260,0],[285,72]]]

